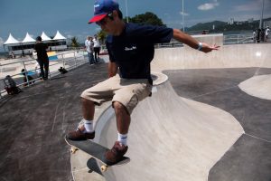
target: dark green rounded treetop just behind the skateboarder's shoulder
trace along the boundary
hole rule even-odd
[[[136,14],[132,18],[128,17],[128,20],[130,23],[165,26],[165,24],[163,24],[163,21],[156,14],[153,14],[151,12],[146,12],[145,14]]]

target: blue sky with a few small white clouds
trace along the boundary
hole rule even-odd
[[[263,0],[117,0],[126,16],[152,12],[168,27],[190,27],[215,20],[228,22],[260,19]],[[23,41],[26,33],[33,38],[42,32],[54,36],[60,31],[66,38],[76,36],[83,42],[87,35],[99,31],[96,24],[88,24],[93,15],[94,0],[0,0],[0,52],[12,33]],[[127,9],[126,9],[127,5]],[[264,18],[271,17],[271,0],[265,0]]]

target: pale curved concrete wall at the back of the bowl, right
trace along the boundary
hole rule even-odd
[[[210,42],[216,40],[210,37]],[[220,37],[218,37],[220,39]],[[220,41],[219,41],[220,42]],[[153,70],[271,67],[271,43],[221,45],[219,51],[191,47],[156,49]]]

